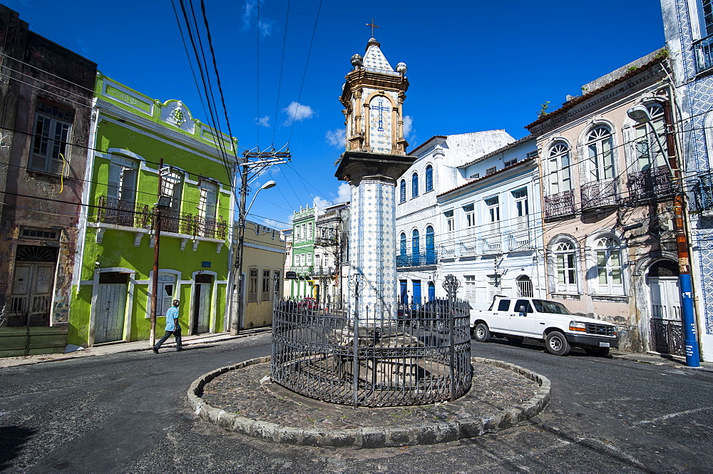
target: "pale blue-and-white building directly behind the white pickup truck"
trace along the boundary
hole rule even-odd
[[[546,296],[536,156],[535,138],[522,138],[459,166],[468,181],[437,196],[438,274],[455,275],[473,309],[496,294]]]

